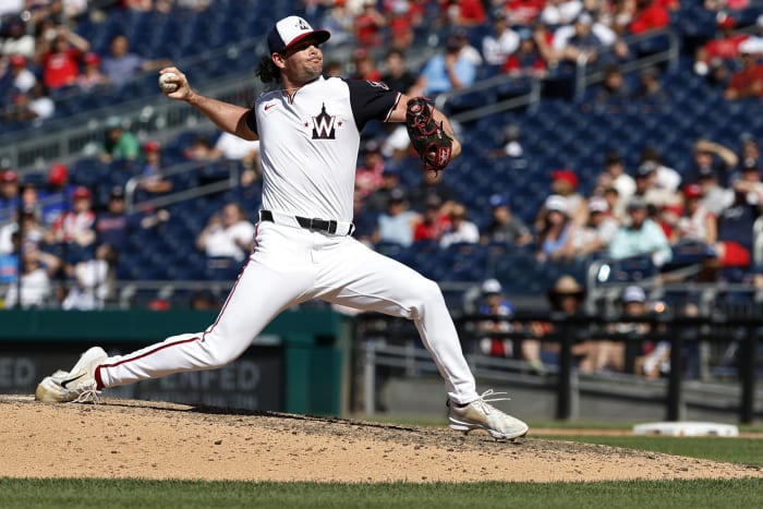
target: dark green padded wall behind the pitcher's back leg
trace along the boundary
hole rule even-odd
[[[53,371],[71,367],[92,346],[110,355],[183,332],[205,330],[215,312],[0,312],[0,392],[34,393]],[[247,410],[340,414],[349,338],[341,315],[289,311],[233,363],[109,389],[109,397]]]

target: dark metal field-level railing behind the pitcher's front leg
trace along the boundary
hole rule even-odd
[[[520,384],[554,390],[556,419],[573,417],[573,402],[585,391],[600,396],[662,402],[667,421],[681,420],[688,404],[717,411],[736,411],[741,423],[751,423],[763,412],[763,393],[755,390],[755,371],[760,365],[755,354],[763,336],[761,316],[715,314],[704,317],[679,317],[652,314],[641,317],[602,317],[522,314],[511,317],[511,323],[521,326],[538,322],[550,324],[550,332],[542,340],[559,346],[558,363],[546,365],[542,374],[533,374],[534,366],[521,359],[492,357],[479,353],[474,346],[485,334],[480,332],[477,325],[486,319],[506,320],[507,317],[468,315],[456,318],[462,348],[474,376],[507,385]],[[437,373],[431,354],[419,341],[415,329],[401,325],[401,322],[404,320],[376,314],[355,317],[354,337],[359,344],[359,359],[362,359],[363,408],[366,413],[374,413],[376,409],[379,367],[400,369],[407,377],[429,377]],[[670,343],[670,371],[666,377],[649,379],[634,374],[634,352],[646,337],[611,334],[609,326],[614,323],[649,324],[652,326],[649,339]],[[528,327],[518,329],[529,330]],[[602,331],[607,331],[607,335],[603,336]],[[514,341],[541,339],[529,337],[524,332],[491,331],[489,336]],[[584,374],[574,367],[572,346],[583,339],[600,341],[601,339],[595,339],[597,337],[625,343],[623,373]],[[700,371],[703,378],[685,379],[685,348],[691,346],[698,352],[703,352],[703,346],[707,343],[734,343],[737,348],[738,365],[732,373],[723,376],[708,376],[705,369]],[[514,348],[514,352],[517,351],[521,349]],[[707,362],[706,355],[699,355],[703,362]]]

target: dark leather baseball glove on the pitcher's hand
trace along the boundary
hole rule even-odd
[[[413,149],[424,161],[424,168],[439,173],[450,162],[453,138],[432,117],[434,111],[424,97],[413,97],[405,109],[405,126]]]

